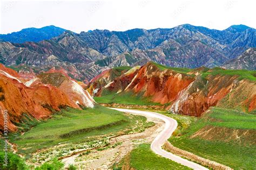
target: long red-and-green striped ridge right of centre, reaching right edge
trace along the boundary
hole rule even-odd
[[[140,96],[166,105],[171,112],[192,116],[200,116],[216,105],[246,112],[256,108],[255,71],[244,71],[250,80],[221,68],[179,69],[148,62],[127,72],[123,70],[125,73],[120,76],[113,76],[112,72],[107,70],[94,79],[87,86],[89,93],[112,98]]]

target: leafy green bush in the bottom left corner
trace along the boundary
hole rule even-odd
[[[14,153],[8,153],[8,164],[5,166],[4,162],[5,154],[4,152],[0,152],[0,169],[17,169],[17,170],[23,170],[23,169],[29,169],[28,166],[26,166],[25,161],[20,158],[17,154]]]

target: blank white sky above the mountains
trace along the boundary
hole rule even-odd
[[[55,25],[76,33],[172,28],[181,24],[224,30],[256,28],[256,1],[7,1],[0,2],[0,33]]]

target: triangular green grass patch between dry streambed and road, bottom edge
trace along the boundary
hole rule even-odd
[[[190,169],[170,159],[160,157],[150,149],[150,144],[140,144],[131,151],[114,169],[130,166],[134,169]]]

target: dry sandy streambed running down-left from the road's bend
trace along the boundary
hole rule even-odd
[[[115,162],[119,162],[128,154],[134,146],[141,143],[151,143],[157,134],[164,130],[164,122],[160,119],[147,117],[147,121],[154,122],[156,125],[146,129],[144,132],[125,134],[123,136],[113,137],[110,144],[117,144],[103,151],[92,151],[88,155],[72,155],[62,161],[65,167],[70,164],[76,165],[79,169],[109,169]],[[80,155],[80,156],[79,156]]]

